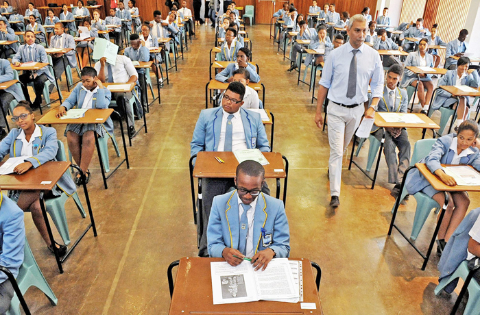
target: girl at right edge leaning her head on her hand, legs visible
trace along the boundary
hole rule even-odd
[[[458,134],[448,134],[438,138],[429,155],[424,157],[420,163],[427,164],[429,171],[440,177],[444,184],[454,186],[457,184],[455,179],[446,175],[440,164],[472,165],[477,171],[480,171],[479,149],[475,147],[476,142],[479,141],[477,139],[478,132],[479,126],[475,121],[464,121],[458,128]],[[405,187],[409,194],[423,192],[437,201],[439,205],[442,206],[445,203],[444,192],[435,190],[417,168],[407,175]],[[453,231],[465,217],[468,205],[470,205],[468,194],[464,191],[447,192],[447,194],[449,201],[437,234],[442,250]],[[439,249],[437,252],[440,253]]]

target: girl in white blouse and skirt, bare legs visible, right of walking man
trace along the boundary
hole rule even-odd
[[[407,56],[405,60],[405,66],[429,66],[433,67],[433,57],[427,51],[429,50],[429,40],[422,38],[418,43],[418,51],[413,51]],[[415,73],[405,68],[403,74],[401,88],[407,88],[407,86],[417,86],[417,95],[422,106],[422,113],[427,114],[429,110],[429,103],[433,92],[433,83],[431,75],[420,75],[420,81]],[[427,89],[427,93],[424,92],[424,88]]]

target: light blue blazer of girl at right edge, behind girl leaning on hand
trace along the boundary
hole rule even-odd
[[[480,77],[477,71],[473,71],[470,75],[467,75],[461,79],[462,86],[470,86],[472,88],[478,88],[480,84]],[[448,70],[446,74],[438,80],[438,86],[455,86],[457,85],[457,69]],[[451,97],[452,95],[446,90],[439,88],[435,93],[435,98],[433,99],[432,109],[438,110],[442,106],[447,108],[450,107],[453,103],[457,102],[457,99]],[[466,101],[470,103],[470,97],[466,97]]]

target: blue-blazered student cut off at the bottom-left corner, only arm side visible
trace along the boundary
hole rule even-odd
[[[1,194],[1,190],[0,190]],[[0,195],[0,261],[16,278],[23,264],[25,224],[23,211],[16,203]],[[14,288],[5,273],[0,274],[0,314],[6,314],[14,296]]]

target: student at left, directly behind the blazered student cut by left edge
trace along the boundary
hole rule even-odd
[[[48,63],[47,53],[42,45],[35,44],[35,34],[33,31],[25,31],[25,44],[21,45],[19,51],[16,52],[14,58],[12,58],[12,64],[14,66],[20,66],[24,62],[45,62]],[[44,66],[36,71],[23,71],[19,75],[19,81],[21,82],[23,95],[25,99],[30,103],[30,96],[28,94],[27,84],[34,82],[35,101],[34,108],[40,108],[42,104],[42,93],[45,81],[50,80],[52,83],[51,90],[53,90],[53,84],[55,79],[50,74],[49,67]],[[50,90],[50,92],[51,92]]]

